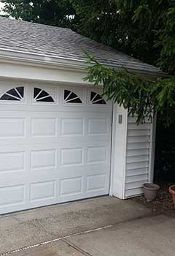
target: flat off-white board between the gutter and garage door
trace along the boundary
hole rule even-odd
[[[31,65],[20,62],[2,62],[0,61],[0,79],[1,80],[33,80],[37,82],[50,83],[75,83],[88,84],[83,81],[87,73],[79,70],[66,69],[59,67],[48,67],[47,65]]]

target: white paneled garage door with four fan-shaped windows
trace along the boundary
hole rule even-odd
[[[100,93],[1,83],[1,214],[109,193],[112,104]]]

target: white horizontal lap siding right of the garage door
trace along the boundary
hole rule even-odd
[[[149,180],[151,125],[149,121],[137,125],[135,116],[128,117],[125,198],[140,195]]]

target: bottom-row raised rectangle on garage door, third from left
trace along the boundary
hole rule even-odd
[[[61,196],[82,193],[82,177],[64,178],[61,180]]]

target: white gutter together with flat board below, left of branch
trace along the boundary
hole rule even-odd
[[[85,64],[79,61],[0,49],[0,79],[91,85],[82,80],[86,75]]]

